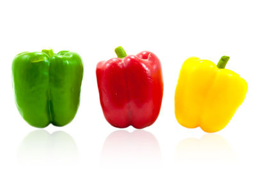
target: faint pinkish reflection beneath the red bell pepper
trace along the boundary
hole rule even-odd
[[[124,166],[125,165],[125,166]],[[102,147],[101,166],[106,169],[158,169],[161,150],[156,137],[145,130],[116,130]]]

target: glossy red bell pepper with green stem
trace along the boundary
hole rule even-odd
[[[101,61],[96,69],[104,116],[114,127],[148,127],[161,108],[161,63],[148,51],[127,56],[122,47],[117,47],[115,52],[118,58]]]

